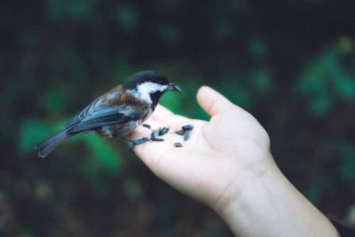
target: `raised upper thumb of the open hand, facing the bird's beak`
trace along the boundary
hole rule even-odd
[[[222,96],[222,94],[219,94],[219,92],[207,86],[201,87],[198,90],[197,102],[210,116],[214,116],[235,106],[231,101],[226,99],[226,97]]]

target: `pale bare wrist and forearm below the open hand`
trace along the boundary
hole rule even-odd
[[[234,196],[217,213],[237,236],[337,236],[329,220],[276,165],[239,177]]]

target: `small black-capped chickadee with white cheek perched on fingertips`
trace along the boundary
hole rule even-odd
[[[181,89],[159,72],[144,71],[131,76],[77,114],[64,130],[43,140],[35,146],[38,156],[45,158],[56,148],[77,133],[95,131],[106,138],[123,138],[137,145],[148,138],[131,139],[127,136],[151,116],[160,97],[166,91],[181,92]]]

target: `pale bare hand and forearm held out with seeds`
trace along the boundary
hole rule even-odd
[[[146,121],[170,131],[195,126],[186,142],[168,133],[163,142],[136,146],[136,155],[155,175],[214,209],[236,236],[339,236],[280,172],[268,133],[251,114],[209,87],[200,88],[197,101],[209,121],[178,116],[163,106]],[[141,126],[133,138],[150,133]]]

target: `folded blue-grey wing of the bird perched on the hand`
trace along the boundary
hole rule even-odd
[[[82,131],[90,131],[101,126],[125,123],[142,118],[143,113],[136,111],[132,106],[110,106],[102,104],[92,111],[88,116],[82,118],[67,131],[67,134],[79,133]]]

